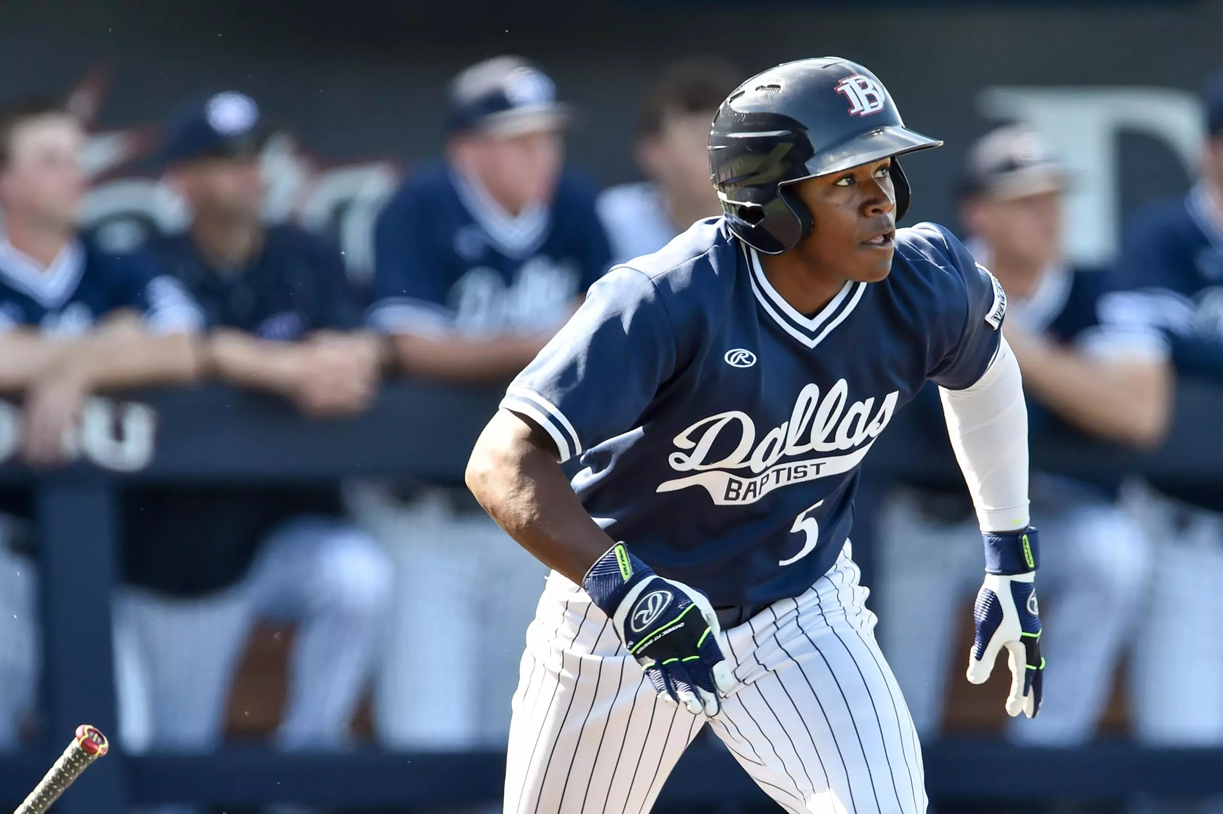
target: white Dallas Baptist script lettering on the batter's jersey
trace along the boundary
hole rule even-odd
[[[658,485],[656,491],[703,486],[718,506],[753,504],[781,486],[849,472],[892,420],[900,392],[893,390],[876,409],[876,398],[849,401],[849,383],[839,379],[821,398],[819,386],[808,384],[783,422],[756,440],[756,424],[730,409],[696,422],[673,439],[679,451],[668,456],[676,472],[696,472]],[[872,414],[873,412],[873,414]],[[737,433],[737,435],[736,435]],[[722,458],[714,449],[734,449]],[[811,452],[844,455],[807,456]],[[746,472],[742,472],[746,471]]]

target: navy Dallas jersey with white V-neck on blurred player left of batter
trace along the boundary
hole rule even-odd
[[[378,218],[371,323],[427,336],[554,329],[610,262],[594,191],[571,172],[550,207],[511,218],[457,170],[427,164]]]

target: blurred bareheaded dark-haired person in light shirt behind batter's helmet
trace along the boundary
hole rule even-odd
[[[722,214],[709,183],[709,125],[744,75],[717,57],[675,62],[641,104],[634,158],[646,181],[599,194],[598,211],[624,263],[652,254],[702,218]]]

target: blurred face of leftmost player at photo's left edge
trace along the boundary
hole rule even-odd
[[[86,188],[83,147],[84,132],[72,116],[54,114],[18,123],[9,166],[0,175],[5,207],[48,227],[73,226]]]

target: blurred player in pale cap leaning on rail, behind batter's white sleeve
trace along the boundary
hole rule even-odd
[[[1148,330],[1101,326],[1097,303],[1110,279],[1071,269],[1063,259],[1065,185],[1062,165],[1035,132],[993,131],[967,160],[966,244],[1007,291],[1004,332],[1024,374],[1033,430],[1058,422],[1102,440],[1151,447],[1169,419],[1167,354]],[[928,396],[915,400],[912,409],[925,411],[936,433],[942,412]],[[1046,623],[1057,636],[1043,643],[1049,666],[1041,715],[1013,726],[1013,739],[1066,747],[1095,735],[1148,571],[1146,540],[1117,504],[1120,478],[1032,477],[1032,511],[1042,518],[1042,534],[1057,541],[1044,546],[1041,595]],[[978,579],[976,533],[959,480],[898,488],[881,522],[881,639],[922,736],[938,732],[958,664],[950,658],[953,621]]]

